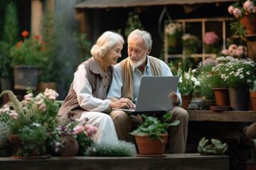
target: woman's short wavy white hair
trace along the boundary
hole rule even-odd
[[[124,44],[122,35],[112,31],[106,31],[97,39],[97,42],[92,46],[90,52],[92,56],[102,58],[111,47],[117,44],[117,42],[122,42]]]

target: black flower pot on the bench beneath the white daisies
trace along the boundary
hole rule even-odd
[[[230,96],[230,106],[235,111],[248,111],[250,91],[249,89],[228,89]]]

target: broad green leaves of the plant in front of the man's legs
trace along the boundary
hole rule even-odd
[[[167,121],[171,120],[171,116],[172,114],[170,112],[166,113],[163,117],[164,123],[161,123],[161,121],[154,116],[142,114],[144,122],[140,124],[136,130],[130,132],[130,134],[140,136],[149,135],[149,140],[158,138],[161,142],[164,142],[159,135],[167,133],[166,130],[168,130],[171,125],[178,125],[180,123],[180,120],[174,120],[172,123],[167,123]]]

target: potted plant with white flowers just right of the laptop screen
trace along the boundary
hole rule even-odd
[[[174,66],[169,64],[169,67],[171,72],[175,75]],[[184,72],[181,69],[181,62],[178,63],[176,75],[180,77],[178,81],[178,90],[180,91],[182,98],[181,108],[188,109],[188,105],[193,97],[194,89],[196,89],[196,86],[200,86],[200,82],[196,79],[195,73],[196,69],[192,71],[191,68],[188,69],[188,72]]]

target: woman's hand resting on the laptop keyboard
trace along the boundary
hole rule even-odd
[[[134,103],[130,101],[128,98],[110,98],[112,101],[110,103],[110,108],[135,108]]]

